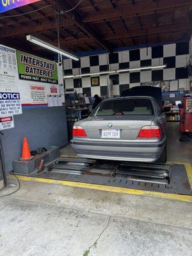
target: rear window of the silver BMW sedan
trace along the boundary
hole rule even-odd
[[[147,99],[109,100],[102,102],[91,116],[113,115],[153,115],[153,109]]]

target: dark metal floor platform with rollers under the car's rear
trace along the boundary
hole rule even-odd
[[[33,172],[30,176],[192,195],[188,174],[182,164],[131,163],[60,157],[51,164],[45,164],[41,172]]]

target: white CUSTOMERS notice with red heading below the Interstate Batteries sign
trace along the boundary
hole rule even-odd
[[[47,103],[45,86],[30,85],[31,104]]]

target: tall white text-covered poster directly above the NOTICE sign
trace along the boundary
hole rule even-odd
[[[16,50],[0,45],[0,92],[18,92]]]

